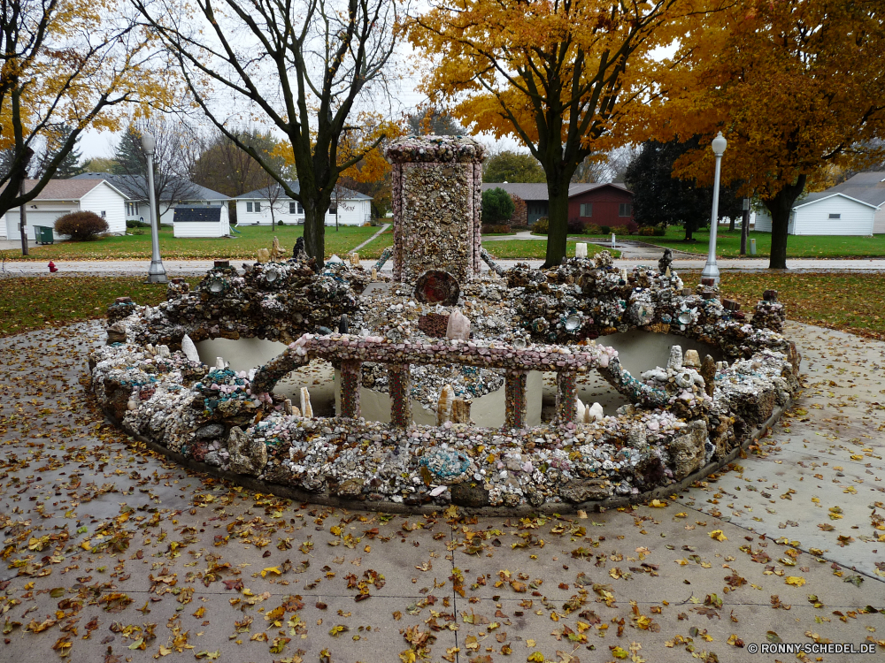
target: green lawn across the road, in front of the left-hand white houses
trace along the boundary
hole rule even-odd
[[[7,250],[7,260],[127,260],[150,259],[150,230],[142,235],[106,237],[95,241],[65,241],[29,248],[30,255],[23,256],[19,250]],[[273,238],[280,240],[281,247],[291,253],[295,241],[304,234],[303,225],[247,225],[238,228],[242,235],[227,238],[175,238],[172,228],[160,229],[160,255],[166,260],[248,260],[254,258],[259,248],[270,248]],[[332,254],[346,255],[361,242],[368,240],[380,227],[335,226],[326,227],[326,257]],[[362,253],[362,252],[360,252]],[[381,250],[379,250],[381,253]]]

